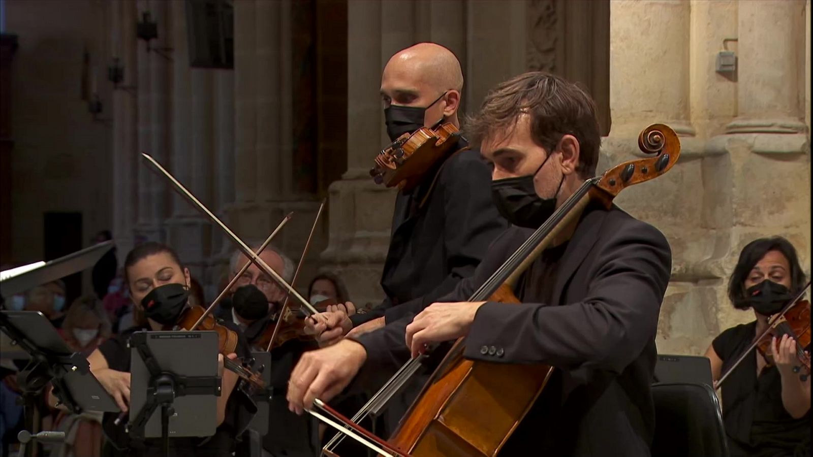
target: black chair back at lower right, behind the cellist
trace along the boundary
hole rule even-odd
[[[705,384],[652,385],[655,433],[652,457],[728,457],[720,401]]]

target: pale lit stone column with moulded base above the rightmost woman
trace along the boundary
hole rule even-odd
[[[799,0],[737,3],[737,118],[728,134],[712,138],[707,147],[728,158],[723,176],[730,180],[732,217],[720,262],[726,275],[742,247],[758,237],[787,237],[802,265],[810,261],[810,149],[802,112],[809,90],[802,67],[809,59],[803,54],[805,6]],[[716,311],[719,329],[753,320],[726,300]]]

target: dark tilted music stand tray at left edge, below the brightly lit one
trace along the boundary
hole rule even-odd
[[[71,350],[41,312],[0,311],[0,329],[30,355],[31,366],[24,372],[31,373],[26,379],[32,391],[51,381],[54,395],[72,412],[120,411],[90,372],[85,356]]]

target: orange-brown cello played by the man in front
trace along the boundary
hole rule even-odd
[[[611,207],[621,190],[663,175],[680,156],[680,141],[672,128],[664,124],[644,129],[638,146],[645,154],[655,157],[621,163],[602,176],[586,180],[467,301],[519,303],[513,287],[520,276],[546,247],[569,237],[589,204]],[[463,358],[463,347],[464,338],[454,342],[393,437],[387,442],[372,437],[371,447],[382,449],[382,455],[398,457],[498,454],[545,388],[554,368],[541,364],[472,361]],[[382,407],[427,356],[424,353],[406,363],[365,405],[366,411],[359,411],[354,420],[333,414],[334,411],[318,399],[312,409],[320,408],[333,416],[332,422],[344,423],[354,435],[367,436],[355,422],[369,411]],[[506,385],[511,385],[511,389],[505,389]],[[489,411],[489,414],[480,411]],[[309,412],[324,416],[322,412]],[[331,454],[329,449],[324,451]]]

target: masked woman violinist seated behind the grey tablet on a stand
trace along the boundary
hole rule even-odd
[[[183,267],[172,248],[156,242],[146,242],[128,253],[124,261],[124,280],[137,314],[143,316],[141,323],[103,342],[89,355],[88,361],[93,375],[115,398],[122,411],[127,411],[130,399],[128,338],[140,330],[172,329],[188,304],[186,299],[173,301],[167,297],[172,296],[172,290],[179,287],[189,289],[190,281],[189,270]],[[149,309],[145,309],[145,303],[150,303]],[[220,324],[237,331],[240,340],[237,354],[230,354],[228,357],[247,358],[250,352],[239,330],[228,323]],[[219,355],[219,360],[222,365],[222,355]],[[218,428],[215,435],[171,438],[171,455],[232,455],[236,446],[235,437],[245,430],[250,420],[247,414],[256,411],[250,398],[241,389],[235,389],[237,380],[238,377],[233,372],[223,371],[222,394],[217,398]],[[130,442],[124,432],[127,420],[121,420],[116,425],[117,417],[118,414],[105,414],[103,429],[107,440],[102,455],[141,456],[161,452],[160,439],[147,439],[143,443]]]

